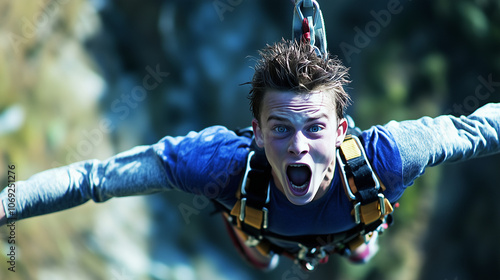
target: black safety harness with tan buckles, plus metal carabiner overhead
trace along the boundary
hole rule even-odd
[[[313,45],[317,55],[326,58],[323,15],[316,1],[296,1],[292,35],[295,40]],[[256,248],[263,256],[285,255],[302,268],[313,270],[318,264],[326,263],[330,254],[350,256],[361,244],[368,243],[375,232],[382,233],[392,223],[390,214],[393,207],[384,197],[385,187],[366,157],[358,138],[360,130],[350,117],[348,120],[348,135],[337,150],[337,164],[345,193],[353,205],[351,214],[356,226],[344,232],[325,235],[283,236],[269,231],[271,167],[264,150],[257,147],[253,140],[236,193],[237,201],[230,211],[223,213],[230,233],[237,235],[233,238],[244,240],[246,246]],[[251,128],[237,133],[253,138]],[[296,246],[293,246],[293,250],[285,249],[273,240]],[[242,244],[235,244],[244,252]]]

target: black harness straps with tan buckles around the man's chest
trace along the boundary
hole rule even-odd
[[[371,233],[381,230],[385,217],[393,211],[384,197],[384,185],[370,166],[358,137],[348,135],[338,149],[342,183],[346,195],[353,203],[351,214],[356,226],[340,233],[306,236],[282,236],[268,230],[268,204],[271,168],[262,149],[252,145],[247,158],[247,169],[236,193],[237,202],[230,213],[225,213],[245,244],[256,247],[263,255],[271,252],[287,255],[309,270],[324,260],[328,254],[349,255]],[[289,252],[274,245],[271,240],[293,242],[299,251]]]

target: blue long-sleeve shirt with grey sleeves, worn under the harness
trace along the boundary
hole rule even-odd
[[[428,166],[500,152],[500,104],[465,117],[424,117],[363,131],[366,154],[394,202]],[[143,195],[171,189],[216,199],[229,209],[244,170],[250,139],[214,126],[183,137],[165,137],[104,161],[89,160],[38,173],[16,183],[16,211],[24,219],[92,199]],[[334,145],[332,144],[332,148]],[[337,170],[327,194],[309,204],[289,202],[272,183],[269,230],[282,235],[336,233],[352,228],[352,203]],[[7,190],[0,193],[5,210]]]

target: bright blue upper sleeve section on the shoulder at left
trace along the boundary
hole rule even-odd
[[[222,126],[185,137],[165,137],[157,145],[167,185],[211,199],[234,198],[251,139]]]

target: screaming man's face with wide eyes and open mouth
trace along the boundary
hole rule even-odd
[[[336,147],[347,130],[347,121],[337,119],[334,105],[330,92],[268,91],[260,120],[252,121],[274,182],[293,204],[320,198],[331,183]]]

